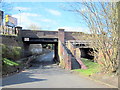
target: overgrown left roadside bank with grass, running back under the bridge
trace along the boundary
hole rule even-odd
[[[38,55],[45,54],[50,52],[49,49],[43,49],[41,54],[38,55],[30,55],[30,57],[21,57],[22,48],[17,46],[8,46],[4,44],[0,44],[2,55],[1,58],[1,68],[2,68],[2,76],[8,76],[11,74],[15,74],[20,72],[21,70],[28,68],[30,65],[30,61],[35,59]]]

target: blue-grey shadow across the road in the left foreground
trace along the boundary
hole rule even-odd
[[[32,76],[34,76],[33,73],[22,72],[22,73],[17,74],[17,75],[13,75],[13,76],[10,76],[10,77],[7,77],[7,78],[3,78],[2,86],[23,84],[23,83],[31,83],[31,82],[47,80],[47,79],[31,78]]]

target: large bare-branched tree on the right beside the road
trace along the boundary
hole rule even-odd
[[[97,62],[105,72],[118,70],[118,12],[115,2],[75,2],[70,11],[82,16],[89,27]],[[96,52],[97,51],[97,52]]]

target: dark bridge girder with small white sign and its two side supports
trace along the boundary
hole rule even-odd
[[[22,38],[24,43],[24,55],[29,56],[30,44],[54,44],[54,61],[59,62],[58,59],[58,38]]]

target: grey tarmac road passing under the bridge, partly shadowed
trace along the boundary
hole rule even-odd
[[[31,68],[3,78],[3,88],[110,88],[52,63],[53,52],[42,55]]]

